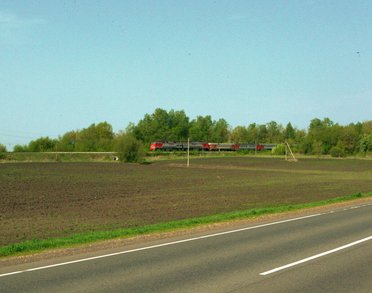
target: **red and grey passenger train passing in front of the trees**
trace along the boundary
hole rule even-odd
[[[205,141],[190,141],[190,151],[237,151],[238,149],[273,149],[278,144],[238,144],[238,143],[210,143]],[[150,150],[156,151],[187,151],[187,141],[153,141],[150,144]]]

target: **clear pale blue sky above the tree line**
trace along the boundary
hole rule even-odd
[[[0,0],[0,143],[156,108],[231,126],[372,120],[372,3]]]

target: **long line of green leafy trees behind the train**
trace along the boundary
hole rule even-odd
[[[137,125],[129,123],[124,130],[114,133],[108,122],[93,123],[87,128],[71,130],[57,139],[41,137],[28,145],[16,145],[15,152],[111,152],[117,151],[125,140],[141,143],[148,150],[151,141],[206,141],[259,144],[280,144],[285,140],[296,144],[302,154],[331,154],[336,157],[372,151],[372,120],[341,126],[329,118],[314,118],[308,129],[286,126],[270,121],[259,125],[232,128],[225,119],[197,116],[190,120],[185,111],[161,108],[145,114]],[[1,145],[0,145],[1,150]]]

